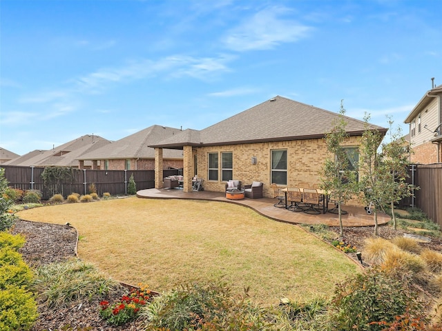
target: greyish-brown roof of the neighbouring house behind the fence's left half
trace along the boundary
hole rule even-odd
[[[96,150],[103,146],[110,144],[111,141],[94,134],[86,134],[73,141],[64,143],[61,146],[52,148],[52,150],[35,150],[17,157],[11,161],[4,163],[5,165],[20,165],[20,166],[65,166],[78,168],[79,157],[82,154]],[[91,168],[92,162],[85,163],[85,168]]]

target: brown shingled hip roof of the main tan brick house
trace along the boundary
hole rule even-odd
[[[339,114],[276,96],[201,131],[185,130],[152,147],[219,146],[263,141],[289,141],[322,138],[334,126]],[[360,135],[365,122],[345,117],[347,133]],[[368,125],[385,134],[386,128]]]

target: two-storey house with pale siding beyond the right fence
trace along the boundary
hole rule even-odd
[[[405,123],[410,124],[410,162],[442,162],[442,85],[427,91]]]

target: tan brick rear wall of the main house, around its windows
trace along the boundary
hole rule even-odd
[[[350,137],[345,146],[357,146],[357,137]],[[325,159],[332,157],[327,152],[324,139],[307,139],[298,141],[279,141],[269,143],[251,143],[233,146],[213,146],[197,149],[198,177],[204,178],[204,189],[224,192],[225,182],[221,181],[219,162],[219,180],[208,181],[208,153],[233,152],[233,179],[250,184],[252,181],[264,183],[264,196],[273,197],[271,184],[271,150],[287,150],[287,185],[296,187],[300,181],[320,183],[320,170]],[[255,165],[251,157],[257,158]],[[219,157],[219,160],[221,155]]]

